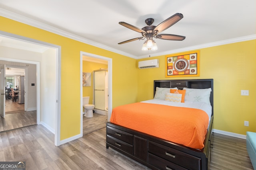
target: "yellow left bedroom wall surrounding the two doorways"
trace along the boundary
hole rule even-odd
[[[80,51],[112,58],[112,106],[137,101],[136,59],[0,16],[0,30],[61,46],[60,140],[80,134]],[[77,83],[76,83],[77,82]],[[73,93],[78,90],[77,93]]]

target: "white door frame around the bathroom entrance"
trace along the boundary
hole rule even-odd
[[[108,61],[108,121],[110,120],[112,112],[112,59],[80,51],[80,135],[83,135],[83,56]]]

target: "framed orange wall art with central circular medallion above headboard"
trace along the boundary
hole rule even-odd
[[[166,55],[166,77],[200,76],[200,51]]]

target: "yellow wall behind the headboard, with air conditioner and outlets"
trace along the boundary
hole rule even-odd
[[[153,98],[154,80],[213,78],[214,129],[242,135],[256,132],[255,47],[256,40],[251,40],[199,49],[200,76],[190,78],[165,78],[165,56],[147,58],[159,59],[160,67],[138,69],[138,102]],[[241,90],[249,90],[249,96],[241,96]]]

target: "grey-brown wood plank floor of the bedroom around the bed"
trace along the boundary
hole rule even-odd
[[[210,170],[253,170],[246,140],[215,133]],[[0,160],[25,161],[26,170],[145,170],[147,167],[106,149],[106,128],[54,146],[54,135],[42,125],[0,133]]]

